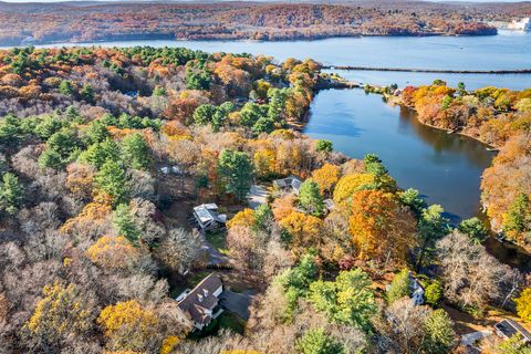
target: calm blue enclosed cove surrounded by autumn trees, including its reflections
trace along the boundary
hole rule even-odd
[[[400,188],[418,189],[452,222],[480,215],[480,180],[494,153],[458,134],[420,124],[415,112],[363,90],[316,94],[304,134],[353,158],[377,154]]]

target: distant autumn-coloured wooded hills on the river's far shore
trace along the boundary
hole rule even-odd
[[[0,45],[139,39],[295,40],[353,35],[488,35],[488,21],[531,15],[529,3],[8,3]]]

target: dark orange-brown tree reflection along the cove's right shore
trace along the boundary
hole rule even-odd
[[[416,112],[407,107],[400,107],[400,125],[409,125],[415,134],[425,143],[434,147],[437,153],[448,152],[464,154],[468,163],[485,169],[490,166],[493,153],[487,152],[487,146],[467,136],[447,134],[445,131],[433,128],[421,124]]]

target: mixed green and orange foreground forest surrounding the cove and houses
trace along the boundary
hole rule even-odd
[[[452,227],[376,155],[351,159],[299,133],[327,80],[312,60],[244,53],[0,51],[2,352],[467,353],[464,317],[531,321],[531,279],[487,252],[479,219]],[[485,198],[503,194],[489,214],[525,238],[529,195],[504,184],[529,178],[500,174],[530,166],[529,92],[459,90],[403,100],[424,122],[501,146]],[[455,118],[465,102],[477,106],[467,124]],[[253,184],[289,176],[296,192],[270,187],[248,205]],[[227,229],[200,233],[192,207],[211,202]],[[227,264],[212,270],[206,243]],[[174,299],[214,271],[253,291],[250,315],[198,333]],[[424,304],[409,299],[419,284]],[[482,347],[531,351],[518,336]]]

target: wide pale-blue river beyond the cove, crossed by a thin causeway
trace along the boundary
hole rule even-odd
[[[38,46],[72,46],[80,43],[55,43]],[[312,58],[327,65],[378,67],[420,67],[440,70],[516,70],[531,67],[531,33],[500,31],[488,37],[366,37],[317,41],[171,41],[143,40],[92,42],[103,46],[186,46],[207,52],[252,53],[287,58]],[[396,72],[342,72],[355,81],[374,84],[427,84],[435,79],[456,85],[462,81],[469,88],[497,85],[511,90],[531,87],[531,74],[431,74]]]

